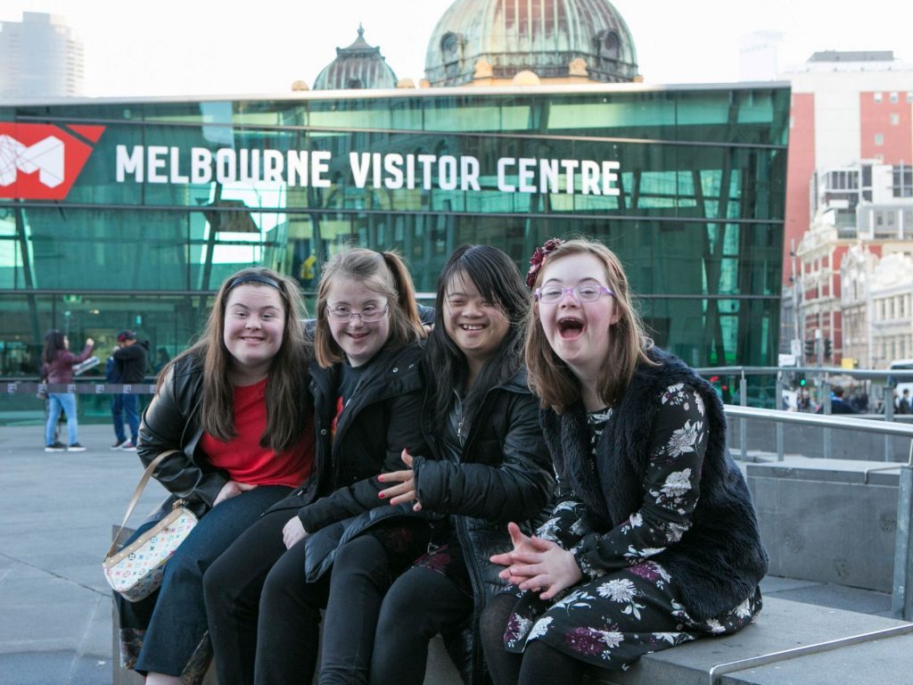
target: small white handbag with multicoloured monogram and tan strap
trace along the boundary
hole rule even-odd
[[[184,538],[194,530],[197,522],[194,512],[184,507],[184,500],[178,500],[174,502],[172,511],[169,511],[160,522],[143,532],[126,547],[115,551],[123,527],[136,508],[137,502],[140,501],[140,495],[142,495],[142,490],[145,490],[152,471],[162,462],[163,458],[178,451],[180,450],[171,449],[163,452],[152,459],[152,463],[146,467],[139,485],[133,491],[130,504],[127,506],[127,513],[121,522],[121,530],[114,536],[114,542],[111,543],[104,561],[101,562],[108,585],[129,602],[139,602],[162,585],[165,563],[177,550],[178,545],[184,542]]]

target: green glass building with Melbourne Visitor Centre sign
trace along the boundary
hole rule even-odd
[[[525,272],[578,235],[622,258],[661,346],[775,364],[789,104],[773,83],[0,107],[0,375],[35,376],[52,327],[173,355],[252,264],[312,295],[345,245],[394,248],[430,294],[463,243]]]

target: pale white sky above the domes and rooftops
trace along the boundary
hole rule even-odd
[[[424,77],[425,51],[452,0],[3,0],[0,21],[22,12],[66,17],[85,48],[89,97],[274,95],[320,70],[364,26],[400,79]],[[740,37],[782,35],[780,67],[821,50],[893,50],[913,60],[913,9],[898,0],[615,0],[635,38],[647,83],[740,78]],[[904,6],[908,8],[902,9]],[[141,9],[142,8],[142,9]]]

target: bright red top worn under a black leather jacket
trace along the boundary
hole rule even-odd
[[[210,463],[225,469],[232,480],[295,488],[310,476],[314,458],[313,426],[309,426],[294,448],[277,453],[260,447],[260,437],[267,427],[267,380],[255,385],[236,385],[236,437],[222,442],[204,433],[200,446]]]

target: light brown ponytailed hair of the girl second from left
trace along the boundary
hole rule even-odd
[[[405,263],[395,252],[349,248],[332,258],[322,269],[317,289],[317,321],[314,329],[314,353],[320,366],[342,361],[342,349],[333,339],[327,320],[327,300],[342,279],[361,282],[365,288],[387,298],[390,336],[384,349],[399,349],[425,337],[425,327],[418,316],[415,286]]]

